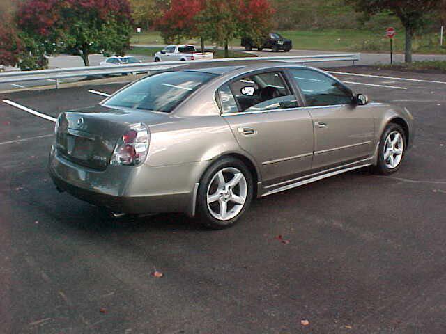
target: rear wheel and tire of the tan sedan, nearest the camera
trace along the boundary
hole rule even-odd
[[[217,160],[201,177],[197,218],[206,228],[229,228],[243,216],[251,204],[253,193],[252,175],[242,161],[232,157]]]

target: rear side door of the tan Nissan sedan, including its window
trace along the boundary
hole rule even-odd
[[[267,190],[311,170],[312,119],[298,108],[283,72],[235,79],[217,91],[217,100],[240,148],[256,160]]]

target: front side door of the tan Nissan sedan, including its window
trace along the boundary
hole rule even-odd
[[[313,168],[328,168],[370,157],[374,118],[366,106],[353,104],[353,93],[337,79],[312,69],[292,69],[314,126]]]

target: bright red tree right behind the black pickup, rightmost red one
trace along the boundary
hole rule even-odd
[[[240,31],[252,38],[255,45],[262,45],[263,38],[272,29],[274,8],[267,0],[240,0]]]

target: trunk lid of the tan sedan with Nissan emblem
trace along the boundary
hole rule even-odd
[[[56,134],[57,154],[80,166],[105,170],[118,139],[129,125],[164,117],[150,111],[105,106],[62,113]]]

